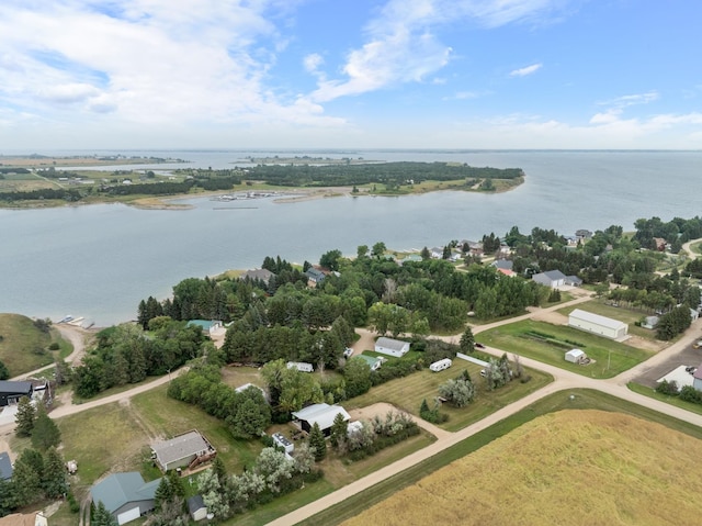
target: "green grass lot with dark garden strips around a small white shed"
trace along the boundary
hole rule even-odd
[[[544,340],[539,335],[550,335],[551,338]],[[591,378],[615,377],[653,355],[653,351],[637,349],[565,325],[531,320],[486,331],[480,333],[479,339],[491,347]],[[574,347],[585,350],[595,362],[579,366],[565,361],[565,352]]]

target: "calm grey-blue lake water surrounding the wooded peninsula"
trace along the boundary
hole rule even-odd
[[[171,156],[213,168],[230,167],[247,155],[275,155],[124,154]],[[304,154],[278,153],[281,157]],[[524,233],[541,226],[565,235],[611,224],[633,230],[638,217],[658,215],[669,221],[702,211],[702,152],[308,154],[519,167],[526,181],[513,191],[491,195],[434,192],[297,203],[272,199],[218,203],[202,198],[184,200],[193,208],[179,211],[121,204],[0,210],[0,312],[53,320],[80,315],[105,326],[134,318],[139,300],[163,299],[181,279],[260,267],[265,256],[317,262],[327,250],[354,255],[359,245],[376,242],[393,249],[420,249],[451,239],[478,239],[490,232],[501,236],[512,225]]]

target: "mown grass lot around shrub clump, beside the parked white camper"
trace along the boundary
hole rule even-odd
[[[509,405],[553,381],[553,378],[540,371],[526,370],[531,380],[521,383],[519,380],[508,383],[495,391],[487,391],[480,377],[480,366],[461,359],[453,361],[453,366],[440,372],[429,369],[415,372],[406,378],[398,378],[389,382],[376,385],[367,393],[344,402],[348,410],[364,407],[377,402],[388,402],[419,418],[419,406],[427,399],[430,407],[439,395],[438,388],[451,378],[456,378],[463,370],[467,370],[477,387],[477,396],[466,407],[453,407],[451,404],[442,404],[441,412],[449,415],[449,421],[440,427],[446,430],[457,430],[477,422],[490,413]]]

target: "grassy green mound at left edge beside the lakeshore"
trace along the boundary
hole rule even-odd
[[[52,343],[59,350],[50,351]],[[70,344],[64,342],[57,331],[43,333],[32,320],[21,314],[0,314],[0,361],[10,371],[10,377],[54,363],[56,357],[67,356]]]

